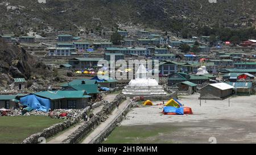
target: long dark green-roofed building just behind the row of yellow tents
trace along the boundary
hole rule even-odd
[[[68,61],[69,65],[72,65],[74,69],[85,69],[93,68],[98,65],[98,61],[103,60],[103,58],[72,58]]]

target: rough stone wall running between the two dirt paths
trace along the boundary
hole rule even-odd
[[[123,94],[118,94],[117,97],[110,102],[109,104],[105,104],[100,112],[98,112],[95,116],[93,116],[88,122],[85,122],[81,127],[76,129],[71,135],[68,136],[62,143],[64,144],[75,144],[79,143],[90,131],[100,125],[101,122],[104,122],[108,115],[114,110],[117,103],[121,103],[126,100]]]

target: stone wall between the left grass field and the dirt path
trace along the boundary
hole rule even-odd
[[[45,139],[47,139],[51,136],[54,136],[57,133],[64,131],[64,129],[67,129],[67,128],[71,127],[72,125],[79,123],[80,120],[82,119],[82,114],[84,112],[86,112],[86,114],[88,114],[89,111],[90,111],[90,107],[86,107],[84,109],[84,111],[81,112],[81,114],[79,116],[77,116],[75,119],[67,120],[63,123],[54,124],[51,127],[44,129],[42,132],[35,133],[34,135],[27,137],[27,139],[25,139],[22,143],[23,144],[37,144],[37,143],[39,143],[39,141],[38,141],[39,137],[44,137]]]

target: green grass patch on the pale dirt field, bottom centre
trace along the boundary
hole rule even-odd
[[[165,137],[172,135],[176,127],[170,124],[121,126],[114,129],[103,144],[159,144],[173,143]]]

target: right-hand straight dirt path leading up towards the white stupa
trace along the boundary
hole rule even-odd
[[[123,112],[127,104],[130,102],[130,100],[125,100],[125,102],[121,103],[119,105],[119,108],[115,108],[112,114],[109,115],[109,118],[105,121],[102,122],[96,129],[93,130],[93,132],[90,133],[83,141],[82,144],[88,144],[90,141],[94,139],[94,137],[98,136],[102,130],[104,130],[108,125],[119,115],[120,113]]]

